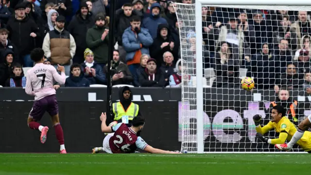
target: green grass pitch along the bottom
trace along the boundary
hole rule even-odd
[[[0,175],[300,175],[311,154],[0,154]]]

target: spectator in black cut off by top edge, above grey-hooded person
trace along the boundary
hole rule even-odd
[[[47,3],[55,3],[54,9],[61,16],[70,16],[72,12],[71,0],[42,0],[40,3],[41,10],[45,10],[45,5]]]

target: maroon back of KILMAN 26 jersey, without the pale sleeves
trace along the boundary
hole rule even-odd
[[[136,140],[136,133],[122,123],[109,139],[109,146],[112,153],[133,153],[137,148]]]

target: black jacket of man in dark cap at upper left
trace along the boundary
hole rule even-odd
[[[6,28],[10,32],[9,38],[18,48],[19,55],[30,54],[35,48],[35,38],[30,34],[35,33],[37,37],[40,36],[35,21],[29,17],[22,20],[12,17],[9,19]]]

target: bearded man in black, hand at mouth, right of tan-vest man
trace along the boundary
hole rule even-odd
[[[72,18],[68,26],[68,32],[73,36],[76,42],[76,54],[73,57],[74,63],[84,61],[83,52],[86,50],[86,33],[87,30],[94,26],[92,14],[88,11],[86,2],[81,2],[80,10]]]

